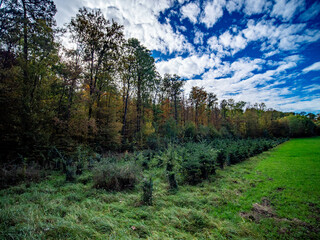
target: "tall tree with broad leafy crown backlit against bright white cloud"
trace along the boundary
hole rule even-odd
[[[82,53],[86,81],[89,88],[88,118],[92,117],[93,105],[101,96],[103,80],[114,68],[119,47],[123,41],[122,26],[105,19],[100,9],[81,8],[68,25],[73,40]]]

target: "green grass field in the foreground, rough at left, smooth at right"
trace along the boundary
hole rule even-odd
[[[0,239],[320,239],[319,137],[290,140],[176,194],[163,169],[152,174],[153,206],[139,204],[140,187],[94,189],[89,173],[2,190]],[[263,199],[272,216],[245,217]]]

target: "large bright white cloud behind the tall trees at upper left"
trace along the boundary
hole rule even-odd
[[[172,52],[193,52],[194,48],[186,37],[179,31],[175,32],[170,22],[161,24],[158,16],[164,10],[172,7],[172,0],[141,0],[141,1],[117,1],[117,0],[77,0],[77,7],[73,7],[73,16],[78,11],[78,6],[89,8],[100,8],[105,17],[109,20],[114,19],[119,24],[124,25],[126,38],[137,38],[141,43],[151,50],[158,50],[163,53]],[[56,2],[58,9],[65,6],[64,2]],[[67,5],[69,6],[69,5]],[[68,10],[69,11],[69,10]],[[63,15],[70,15],[63,13]],[[69,22],[70,19],[60,19],[58,22]]]

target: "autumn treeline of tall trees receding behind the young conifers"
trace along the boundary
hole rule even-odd
[[[199,87],[184,93],[184,79],[160,76],[151,52],[125,39],[123,26],[98,9],[81,8],[64,29],[56,28],[55,13],[52,0],[0,3],[2,162],[44,164],[53,148],[68,154],[79,145],[125,151],[168,141],[319,131],[319,115],[219,102]],[[67,33],[73,49],[59,43]]]

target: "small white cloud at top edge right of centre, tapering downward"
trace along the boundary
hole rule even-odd
[[[204,23],[207,28],[211,28],[223,16],[225,4],[225,0],[207,1],[200,19],[201,22]]]

